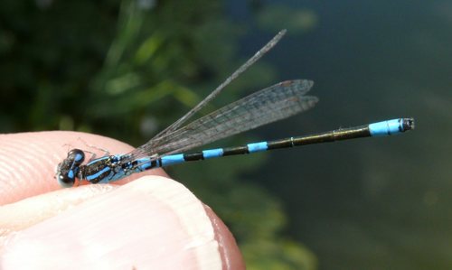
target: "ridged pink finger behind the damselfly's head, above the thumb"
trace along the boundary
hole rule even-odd
[[[89,145],[96,148],[91,149],[92,146]],[[0,135],[0,205],[61,190],[55,179],[55,170],[72,148],[95,151],[98,157],[105,154],[99,149],[107,149],[110,154],[123,154],[133,150],[130,145],[117,140],[81,132]],[[163,170],[144,173],[166,175]],[[124,184],[137,177],[132,175],[115,184]]]

